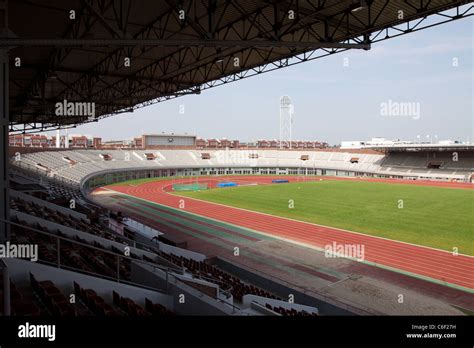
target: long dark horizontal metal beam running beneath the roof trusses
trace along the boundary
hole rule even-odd
[[[370,44],[341,42],[305,42],[273,40],[171,40],[171,39],[21,39],[2,38],[0,47],[299,47],[360,48],[369,49]]]

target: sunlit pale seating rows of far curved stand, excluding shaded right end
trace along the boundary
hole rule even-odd
[[[108,160],[103,159],[106,154]],[[203,158],[203,155],[204,158]],[[152,156],[155,160],[150,160]],[[306,157],[307,156],[307,157]],[[76,162],[70,165],[64,158]],[[346,152],[313,151],[278,151],[252,150],[251,153],[242,150],[76,150],[54,151],[51,155],[42,152],[24,154],[21,161],[12,162],[14,165],[38,172],[37,163],[43,163],[51,172],[50,177],[65,182],[81,182],[86,176],[105,170],[116,169],[160,169],[160,168],[199,168],[199,167],[306,167],[339,170],[360,170],[377,172],[377,164],[384,156],[360,154],[357,163],[351,163],[353,157]],[[307,158],[302,160],[302,158]],[[47,161],[46,161],[47,159]],[[146,160],[148,159],[148,160]]]

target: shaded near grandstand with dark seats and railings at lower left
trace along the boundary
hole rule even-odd
[[[11,242],[36,244],[40,248],[38,262],[6,262],[9,272],[13,272],[12,301],[2,308],[3,313],[262,315],[251,309],[243,301],[244,297],[252,294],[262,303],[265,303],[265,298],[277,300],[276,295],[207,263],[204,255],[149,240],[147,244],[141,244],[91,221],[89,215],[17,191],[12,191],[11,208]],[[127,256],[124,256],[124,248],[127,248]],[[54,271],[45,268],[47,265],[53,265]],[[15,272],[20,268],[30,272],[29,278],[25,272]],[[36,281],[33,274],[41,281]],[[78,279],[82,286],[77,284]],[[150,283],[161,285],[157,288],[156,284],[150,286]],[[110,289],[113,289],[112,302]],[[70,291],[78,295],[79,304],[71,306],[65,301],[64,294]],[[196,312],[192,306],[177,305],[177,294],[182,291],[186,291],[189,299],[204,302],[207,310],[201,308]],[[132,299],[122,298],[118,293],[129,294]],[[101,297],[103,299],[97,299]],[[288,307],[281,300],[279,303]],[[313,308],[312,311],[317,310]],[[295,307],[289,308],[288,313],[277,310],[265,312],[265,315],[300,315],[298,313],[300,311]]]

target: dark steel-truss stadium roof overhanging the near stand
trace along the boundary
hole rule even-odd
[[[470,16],[472,6],[460,7],[469,2],[2,0],[8,3],[0,8],[6,13],[0,45],[9,48],[10,131],[92,122],[347,49],[369,49]],[[59,116],[55,105],[65,100],[93,102],[94,112]]]

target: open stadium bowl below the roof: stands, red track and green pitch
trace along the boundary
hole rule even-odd
[[[124,248],[123,244],[120,244],[121,241],[130,249],[132,258],[148,261],[151,261],[151,254],[147,255],[144,250],[155,250],[154,247],[158,247],[159,252],[155,251],[158,254],[154,256],[154,263],[159,264],[157,260],[165,261],[163,258],[175,258],[175,263],[168,260],[162,266],[182,267],[184,264],[184,267],[188,268],[186,265],[189,265],[190,274],[178,273],[178,279],[184,283],[182,285],[214,294],[216,301],[209,305],[209,314],[213,311],[232,314],[237,310],[235,306],[243,306],[239,307],[239,310],[250,313],[253,306],[267,308],[276,303],[273,299],[276,294],[279,298],[285,298],[289,294],[295,294],[298,289],[301,289],[301,295],[295,295],[294,305],[288,304],[285,299],[278,302],[277,308],[286,307],[291,313],[291,310],[312,304],[306,309],[307,313],[426,313],[428,309],[423,307],[428,307],[428,304],[423,303],[426,299],[418,300],[416,306],[412,304],[404,308],[394,305],[390,308],[387,294],[382,294],[375,301],[370,292],[377,288],[379,291],[392,291],[397,284],[405,283],[422,286],[420,294],[423,295],[437,293],[440,287],[449,287],[443,290],[445,301],[455,301],[460,308],[465,308],[472,298],[473,287],[472,277],[469,276],[473,250],[469,236],[472,217],[469,215],[468,202],[472,200],[473,193],[470,189],[473,187],[474,151],[470,146],[460,145],[432,145],[417,148],[414,152],[407,151],[410,148],[413,149],[410,146],[387,148],[386,152],[378,154],[373,154],[376,152],[374,150],[366,150],[368,153],[351,153],[344,150],[244,149],[67,150],[25,154],[16,152],[12,155],[11,172],[15,177],[11,180],[13,185],[21,187],[26,184],[25,180],[32,181],[36,178],[36,181],[30,182],[29,185],[35,186],[33,190],[37,189],[38,185],[48,187],[50,192],[54,192],[53,202],[72,197],[76,207],[88,206],[92,201],[102,208],[107,208],[110,212],[109,225],[116,228],[108,235],[112,237],[113,232],[119,232],[122,235],[121,240],[118,236],[112,241],[104,238],[107,234],[97,232],[101,229],[100,225],[97,225],[96,231],[82,231],[83,224],[88,221],[82,213],[74,216],[77,222],[73,223],[72,227],[76,226],[77,231],[76,235],[70,231],[70,236],[90,244],[91,247],[101,245],[101,248],[116,253]],[[456,162],[452,161],[453,152],[459,153]],[[434,162],[440,167],[432,169]],[[324,191],[320,191],[318,186]],[[371,186],[378,188],[374,197],[371,197]],[[360,214],[356,207],[363,201],[380,199],[384,187],[392,197],[392,202],[385,208],[379,206],[378,213],[383,217],[382,220],[408,219],[407,227],[396,227],[400,231],[394,230],[394,226],[389,228],[390,225],[384,225],[383,221],[370,214],[367,214],[371,217],[367,225],[363,224],[367,216],[353,216]],[[402,191],[402,188],[406,192]],[[301,190],[307,193],[302,195]],[[424,193],[424,190],[427,192]],[[275,201],[279,200],[275,207],[268,206],[268,195],[272,194],[274,196],[271,197],[274,197]],[[321,210],[324,205],[331,204],[331,201],[332,204],[339,202],[341,194],[356,197],[354,202],[348,202],[347,216],[331,220],[331,210],[328,209],[314,221],[309,220],[311,223],[305,222],[308,221],[308,216]],[[364,194],[366,196],[361,196]],[[427,229],[424,234],[419,226],[410,228],[409,225],[416,222],[414,217],[396,215],[403,211],[397,208],[399,199],[406,200],[408,210],[410,204],[417,207],[427,205],[428,194],[433,194],[430,200],[435,202],[448,200],[452,211],[442,211],[445,207],[438,208],[434,215],[430,212],[433,207],[428,211],[423,211],[422,208],[413,211],[416,216],[421,215],[426,219],[419,221]],[[320,198],[321,206],[312,199],[313,195],[324,195]],[[59,208],[54,203],[41,202],[38,198],[29,197],[22,192],[13,190],[12,199],[15,205],[11,219],[18,225],[32,228],[36,226],[34,229],[41,226],[40,230],[54,231],[58,220],[64,222],[71,216],[70,211],[64,212],[64,208]],[[346,200],[349,198],[346,197]],[[291,207],[289,201],[293,202],[294,207]],[[377,205],[380,203],[375,202]],[[299,213],[300,205],[304,209],[310,209],[310,213],[305,214],[304,210]],[[316,207],[311,209],[311,205]],[[351,205],[354,206],[352,210]],[[337,206],[341,209],[340,202]],[[42,212],[38,214],[37,211],[35,217],[28,215],[31,210],[36,210],[35,207],[42,207]],[[57,216],[54,222],[48,221],[47,218],[51,209],[61,209],[55,213]],[[365,209],[367,206],[364,206]],[[453,228],[450,221],[443,224],[442,221],[455,212],[464,217],[458,222],[459,226]],[[437,214],[439,216],[435,218]],[[123,223],[125,217],[130,217],[131,220]],[[361,221],[357,221],[359,219]],[[341,220],[349,223],[344,225]],[[320,221],[324,224],[319,224]],[[137,228],[136,224],[147,226],[150,230]],[[321,226],[326,224],[328,226]],[[440,226],[451,229],[452,239],[444,241],[442,232],[435,233]],[[321,235],[321,229],[324,235]],[[150,236],[156,235],[158,244],[152,246]],[[102,238],[98,239],[98,236]],[[324,252],[325,247],[333,243],[363,245],[363,262],[357,260],[355,254],[348,255],[347,258],[337,258],[337,255],[334,259],[328,258]],[[51,241],[51,245],[55,244],[56,241]],[[452,253],[454,247],[459,253],[456,256]],[[274,249],[278,249],[278,253]],[[236,251],[238,256],[234,255]],[[46,255],[44,257],[47,257]],[[49,261],[54,262],[54,255],[49,257]],[[265,272],[262,258],[267,260],[265,264],[268,264]],[[61,260],[66,263],[67,257],[61,257]],[[124,259],[122,262],[127,261]],[[314,267],[314,262],[317,267]],[[214,264],[217,265],[216,269],[212,268]],[[68,266],[72,265],[63,265]],[[150,272],[149,264],[135,266],[143,267],[143,272]],[[205,267],[205,276],[201,273],[201,267]],[[112,269],[115,268],[114,266]],[[288,271],[282,272],[281,268]],[[219,274],[222,270],[229,270],[232,277],[237,274],[242,279],[247,279],[255,272],[252,275],[256,277],[257,284],[236,287],[233,281],[221,282]],[[128,272],[133,274],[133,267]],[[117,275],[121,282],[134,279],[129,278],[131,275],[128,272],[124,270]],[[364,277],[367,272],[380,273],[377,279],[382,284],[344,281],[351,277]],[[170,276],[166,272],[160,274],[158,270],[152,273],[157,273],[157,281],[163,281],[160,278]],[[216,278],[212,279],[208,274]],[[185,275],[189,276],[189,280],[183,278]],[[114,278],[115,274],[111,272],[108,276]],[[265,283],[259,277],[269,277],[266,282],[271,281],[272,286],[267,289],[275,290],[260,288]],[[341,281],[345,282],[346,286],[354,283],[354,287],[365,287],[370,296],[364,298],[359,295],[358,300],[361,303],[358,304],[354,299],[344,301],[345,296],[340,294],[347,292],[346,295],[349,295],[353,290],[351,287],[334,287],[337,292],[330,290],[332,284]],[[252,288],[243,290],[241,286]],[[315,289],[314,293],[308,291],[308,288]],[[320,288],[325,289],[322,297],[316,290]],[[286,296],[282,296],[283,289]],[[179,288],[176,291],[184,289]],[[267,296],[254,297],[263,291]],[[304,294],[306,297],[310,293],[314,296],[313,300],[305,301],[305,304],[297,302],[300,296],[303,297]],[[413,296],[412,301],[415,302],[416,294]],[[246,308],[248,297],[252,299],[250,303],[254,304]],[[237,305],[238,302],[241,303]],[[448,310],[442,303],[444,301],[437,302],[429,302],[432,314],[459,314],[457,310]],[[282,307],[283,305],[285,307]],[[194,307],[184,307],[183,312],[178,313],[198,314],[194,311]],[[199,311],[201,314],[201,309]],[[266,309],[263,310],[263,313],[266,312]]]

